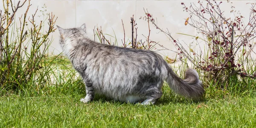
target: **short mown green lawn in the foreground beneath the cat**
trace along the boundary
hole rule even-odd
[[[0,127],[256,127],[255,97],[193,102],[165,94],[140,106],[99,96],[84,104],[83,96],[0,97]]]

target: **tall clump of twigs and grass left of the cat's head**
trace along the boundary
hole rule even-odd
[[[28,3],[26,11],[18,16],[17,12],[25,3]],[[19,1],[17,5],[12,0],[3,0],[3,10],[0,11],[0,93],[10,90],[40,93],[50,78],[50,63],[44,60],[57,18],[46,14],[46,19],[37,22],[38,9],[28,16],[30,7],[30,0]]]

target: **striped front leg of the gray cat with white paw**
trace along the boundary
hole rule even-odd
[[[94,89],[93,89],[93,84],[92,83],[85,83],[86,86],[86,96],[82,99],[80,99],[81,102],[87,103],[94,98]]]

